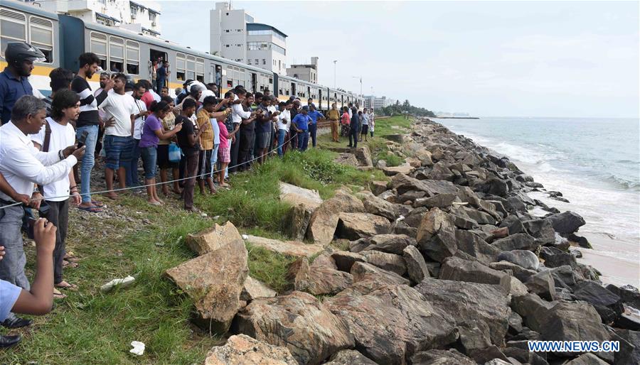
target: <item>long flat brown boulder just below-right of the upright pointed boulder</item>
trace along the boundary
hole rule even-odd
[[[511,289],[511,278],[508,273],[494,270],[476,261],[466,261],[459,257],[444,259],[440,268],[439,278],[500,285],[505,290],[505,293],[509,293]]]

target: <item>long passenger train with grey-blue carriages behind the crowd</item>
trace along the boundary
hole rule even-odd
[[[151,80],[151,60],[168,60],[171,74],[167,80],[170,93],[182,87],[185,80],[215,82],[221,94],[238,85],[250,92],[270,89],[279,100],[299,97],[303,104],[313,99],[320,110],[338,108],[349,103],[364,105],[358,94],[326,87],[277,72],[246,65],[207,52],[183,47],[169,40],[135,33],[114,26],[85,22],[65,14],[38,9],[33,3],[0,0],[0,68],[4,69],[4,49],[9,42],[23,41],[42,50],[45,62],[36,62],[29,77],[34,90],[43,96],[50,94],[48,75],[56,67],[78,70],[78,56],[85,52],[100,58],[100,67],[107,72],[122,72],[132,80]],[[100,75],[93,75],[92,89],[99,87]],[[35,92],[34,92],[35,93]]]

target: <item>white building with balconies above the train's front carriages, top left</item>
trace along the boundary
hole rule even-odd
[[[40,4],[43,10],[53,13],[69,14],[83,21],[119,26],[149,36],[160,36],[161,7],[156,1],[42,0],[35,2]]]

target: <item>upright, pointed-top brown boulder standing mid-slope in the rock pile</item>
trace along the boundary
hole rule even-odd
[[[442,262],[458,250],[457,238],[449,214],[433,208],[422,217],[416,240],[420,252]]]

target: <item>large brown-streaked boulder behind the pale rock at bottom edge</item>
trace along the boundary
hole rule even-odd
[[[287,347],[299,364],[321,364],[354,344],[346,322],[313,295],[299,291],[254,300],[238,312],[233,327],[237,333]]]

